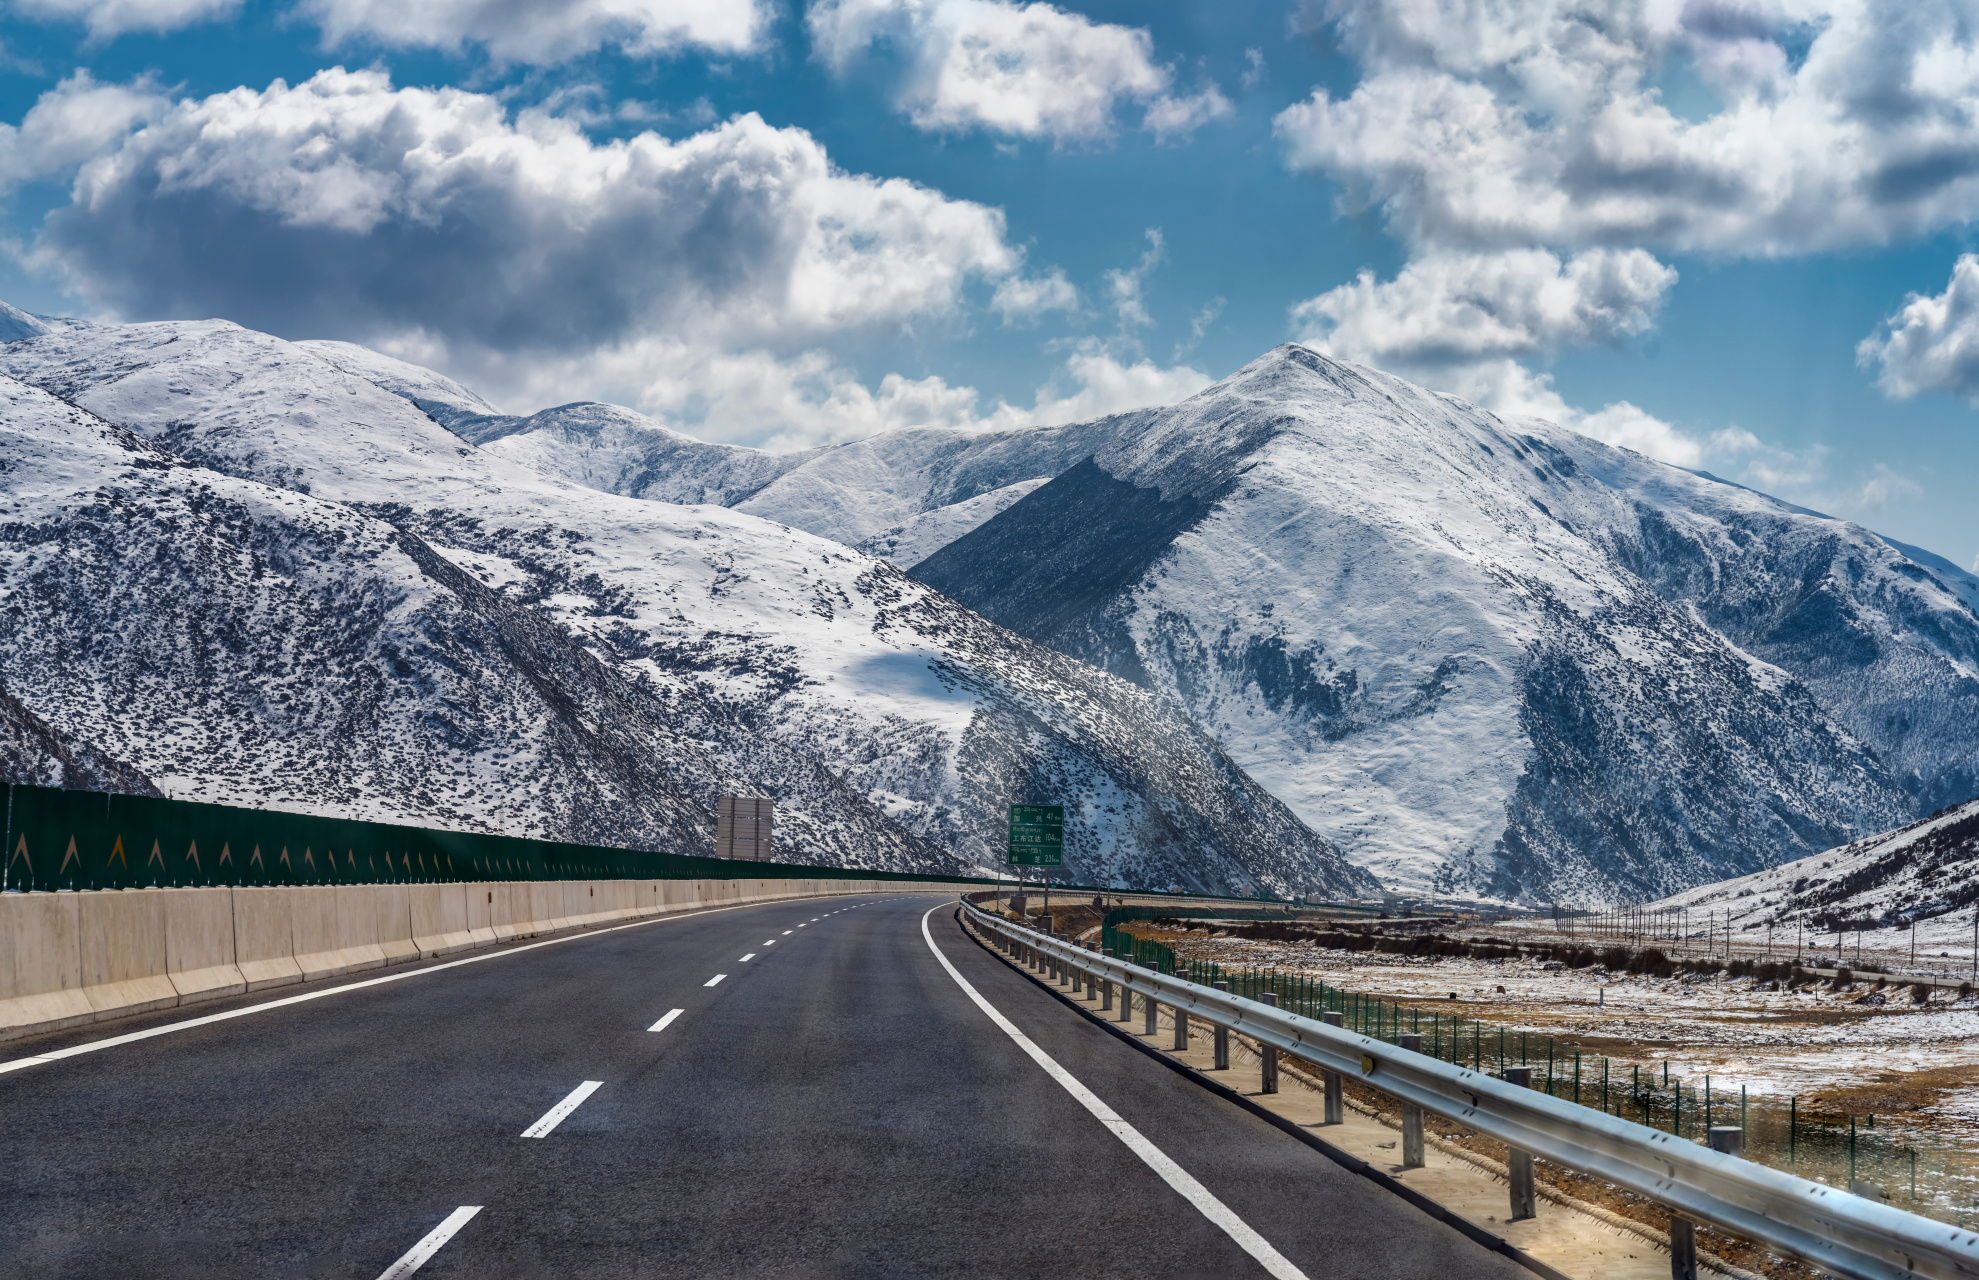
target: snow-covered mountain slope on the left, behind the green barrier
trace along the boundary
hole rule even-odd
[[[0,686],[174,793],[693,847],[746,785],[786,849],[867,867],[991,863],[1007,801],[1065,799],[1081,878],[1371,888],[1164,698],[837,542],[475,447],[499,415],[425,370],[218,320],[51,328],[0,370],[156,459],[49,463],[69,489],[6,514]]]

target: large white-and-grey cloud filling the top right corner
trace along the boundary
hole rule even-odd
[[[1801,253],[1979,214],[1979,26],[1904,0],[1324,0],[1364,69],[1276,117],[1411,245]],[[1658,77],[1718,97],[1674,113]]]

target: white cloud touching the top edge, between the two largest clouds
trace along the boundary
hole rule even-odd
[[[1094,142],[1122,103],[1144,109],[1158,140],[1231,115],[1215,85],[1174,93],[1146,30],[1092,22],[1051,4],[1003,0],[815,0],[813,53],[839,75],[898,59],[896,105],[932,133],[984,129],[1019,138]]]

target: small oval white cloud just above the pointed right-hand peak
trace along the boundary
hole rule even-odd
[[[1676,271],[1643,249],[1429,253],[1292,309],[1300,340],[1377,366],[1546,356],[1647,332]]]

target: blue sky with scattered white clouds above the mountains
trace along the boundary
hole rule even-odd
[[[0,297],[770,447],[1174,400],[1300,338],[1969,566],[1973,30],[1799,0],[14,0]]]

